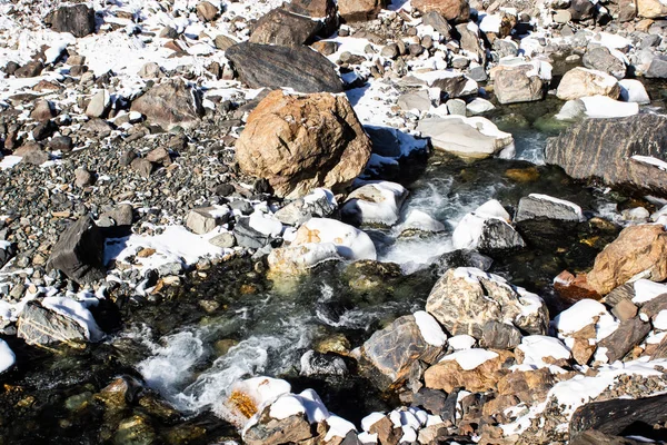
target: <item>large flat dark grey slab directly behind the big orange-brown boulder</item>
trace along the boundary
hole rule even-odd
[[[342,82],[334,63],[308,47],[243,42],[229,48],[226,56],[241,81],[250,88],[342,92]]]

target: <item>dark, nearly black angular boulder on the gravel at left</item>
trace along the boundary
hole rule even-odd
[[[104,237],[90,216],[67,228],[53,246],[47,270],[61,270],[79,284],[104,277],[102,258]]]

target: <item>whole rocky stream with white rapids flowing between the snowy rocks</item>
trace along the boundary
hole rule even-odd
[[[332,412],[352,422],[371,411],[386,409],[391,400],[380,397],[361,378],[301,377],[301,356],[336,335],[344,335],[349,347],[357,347],[396,317],[422,309],[441,273],[434,263],[452,250],[451,234],[457,222],[491,198],[511,210],[522,196],[547,194],[580,205],[589,216],[608,216],[619,202],[623,205],[623,197],[575,182],[561,170],[542,165],[546,138],[557,130],[539,120],[554,112],[551,102],[545,103],[537,111],[517,106],[492,116],[499,127],[515,135],[514,160],[468,164],[435,155],[426,165],[417,166],[420,174],[405,184],[410,195],[402,211],[427,212],[446,230],[427,237],[400,237],[396,229],[369,229],[379,260],[396,263],[396,268],[328,264],[299,280],[271,283],[250,260],[241,260],[238,267],[222,264],[180,295],[139,307],[125,306],[129,323],[123,330],[84,354],[30,357],[34,367],[24,370],[12,385],[54,392],[40,414],[43,423],[34,431],[80,438],[81,431],[90,429],[90,437],[96,437],[97,429],[103,429],[100,425],[110,422],[100,413],[91,412],[86,417],[77,412],[76,418],[83,421],[74,421],[62,409],[61,415],[44,413],[59,413],[50,406],[61,406],[67,397],[81,392],[99,390],[119,374],[142,377],[186,418],[218,413],[231,384],[256,375],[286,378],[295,390],[312,387]],[[552,293],[552,277],[564,268],[589,267],[597,251],[616,235],[611,230],[607,237],[591,237],[596,243],[579,243],[591,235],[590,230],[594,228],[581,226],[555,237],[525,234],[528,247],[494,257],[491,271],[538,291],[552,310],[559,310],[563,301]],[[202,309],[202,300],[212,304],[209,310]],[[12,347],[19,354],[32,354],[21,345]],[[93,370],[98,368],[102,370]],[[17,396],[16,403],[20,400]],[[11,413],[4,422],[21,419],[16,411]],[[81,429],[71,431],[71,425],[63,429],[63,419]],[[19,429],[12,431],[16,437],[23,437]]]

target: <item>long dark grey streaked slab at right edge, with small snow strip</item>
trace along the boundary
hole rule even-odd
[[[667,116],[586,119],[549,138],[547,164],[576,179],[600,178],[667,196]]]

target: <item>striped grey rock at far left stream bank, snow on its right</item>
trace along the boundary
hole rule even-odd
[[[81,347],[88,340],[86,329],[72,318],[47,309],[37,301],[23,308],[18,322],[19,338],[29,345],[48,346],[60,343]]]

